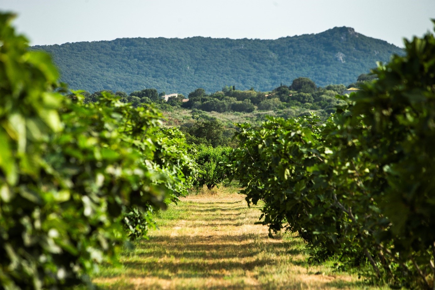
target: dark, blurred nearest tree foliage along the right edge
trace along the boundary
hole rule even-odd
[[[405,268],[401,270],[407,275],[420,279],[418,287],[431,288],[435,277],[431,145],[435,140],[435,37],[428,33],[405,41],[405,50],[404,57],[380,64],[373,71],[378,80],[365,83],[363,91],[351,96],[352,114],[343,130],[359,140],[349,144],[349,150],[367,151],[366,162],[378,168],[371,177],[378,188],[367,187],[391,223],[378,251],[392,245],[388,258]],[[368,132],[361,134],[355,128],[357,122],[365,124]],[[413,266],[403,266],[409,263]]]

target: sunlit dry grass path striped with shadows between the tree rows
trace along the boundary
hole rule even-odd
[[[106,289],[370,289],[355,275],[309,266],[296,235],[268,238],[236,190],[183,198],[157,215],[160,230],[125,250],[122,267],[94,279]]]

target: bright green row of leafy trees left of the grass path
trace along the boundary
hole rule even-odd
[[[98,263],[117,263],[129,207],[149,213],[186,192],[187,147],[179,132],[156,133],[161,115],[151,107],[55,92],[50,57],[28,51],[11,18],[0,14],[1,285],[90,284]]]

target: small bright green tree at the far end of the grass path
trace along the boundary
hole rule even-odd
[[[194,187],[201,188],[204,184],[209,190],[218,186],[228,177],[228,157],[231,147],[211,147],[201,144],[197,147],[194,160],[198,166]]]

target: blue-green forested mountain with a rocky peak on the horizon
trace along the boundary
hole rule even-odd
[[[348,84],[402,49],[350,27],[277,40],[119,38],[111,41],[34,46],[49,52],[61,80],[74,90],[156,88],[187,94],[224,85],[268,91],[309,77],[319,86]]]

